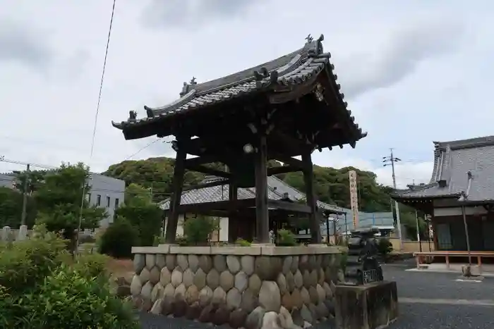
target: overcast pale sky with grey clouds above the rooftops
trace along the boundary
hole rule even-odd
[[[390,184],[381,160],[394,147],[403,187],[430,179],[433,140],[493,135],[492,1],[116,0],[90,159],[112,2],[0,0],[0,156],[105,170],[155,140],[126,141],[111,120],[174,101],[193,76],[212,80],[299,49],[309,33],[325,35],[368,131],[356,149],[316,151],[316,164],[373,170]],[[173,155],[157,142],[132,159]]]

